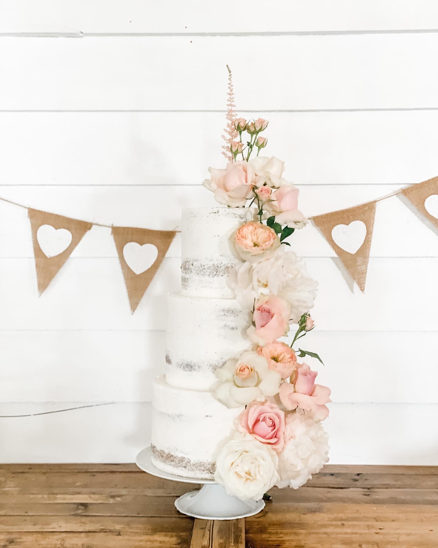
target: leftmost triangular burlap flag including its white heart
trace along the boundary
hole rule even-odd
[[[70,257],[73,249],[93,226],[90,222],[28,209],[31,221],[33,254],[41,295]]]

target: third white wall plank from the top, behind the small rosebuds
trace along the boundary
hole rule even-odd
[[[1,42],[0,42],[1,45]],[[251,118],[254,113],[240,112]],[[296,184],[409,185],[438,173],[438,111],[260,112]],[[199,184],[222,167],[223,112],[1,112],[4,185]],[[170,144],[170,128],[181,138]]]

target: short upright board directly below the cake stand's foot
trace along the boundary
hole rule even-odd
[[[245,548],[245,520],[195,520],[190,548]]]

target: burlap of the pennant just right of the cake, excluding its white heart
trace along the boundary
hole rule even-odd
[[[314,224],[322,232],[339,259],[341,259],[362,293],[365,292],[375,213],[376,202],[370,202],[363,206],[341,209],[339,211],[313,217]],[[350,253],[336,244],[332,236],[332,231],[337,225],[349,225],[356,220],[362,221],[365,224],[366,235],[359,249],[356,250],[355,253]]]

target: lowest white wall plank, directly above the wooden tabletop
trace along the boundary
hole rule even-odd
[[[14,409],[18,414],[30,406],[37,412],[51,405],[1,404],[0,412]],[[72,402],[66,405],[73,406]],[[430,435],[430,420],[436,418],[438,405],[332,403],[330,408],[324,426],[331,436],[331,464],[438,465],[436,439]],[[150,443],[149,421],[148,403],[0,419],[0,462],[131,463]],[[62,485],[58,488],[62,494]],[[57,500],[80,502],[77,492],[58,495]],[[94,501],[99,501],[99,495]]]

